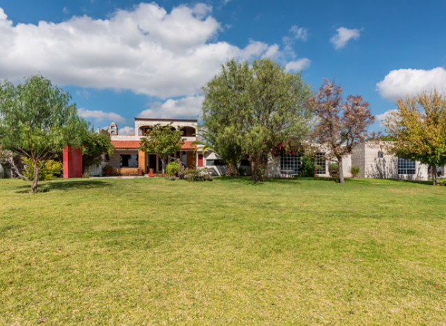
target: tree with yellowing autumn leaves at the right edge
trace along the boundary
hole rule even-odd
[[[430,165],[436,185],[436,169],[446,165],[446,95],[425,91],[405,101],[398,98],[397,106],[383,121],[386,132],[396,139],[387,150]]]

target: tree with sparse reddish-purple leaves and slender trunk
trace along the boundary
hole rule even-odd
[[[351,154],[357,143],[377,137],[374,132],[367,132],[368,126],[375,122],[370,104],[364,102],[361,95],[348,95],[344,101],[341,86],[326,78],[309,104],[317,119],[313,137],[326,146],[326,159],[339,165],[339,183],[345,183],[342,157]]]

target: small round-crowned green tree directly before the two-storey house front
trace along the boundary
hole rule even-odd
[[[141,139],[140,150],[146,153],[155,153],[161,159],[162,172],[167,163],[168,156],[175,154],[183,145],[183,131],[175,130],[172,123],[167,126],[156,124],[146,132],[146,137]]]

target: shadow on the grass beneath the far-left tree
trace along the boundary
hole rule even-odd
[[[38,184],[38,193],[46,193],[52,190],[67,191],[71,189],[98,189],[109,187],[110,183],[99,180],[71,180],[71,181],[45,181]],[[31,190],[31,183],[26,182],[17,187],[19,193],[25,194]]]

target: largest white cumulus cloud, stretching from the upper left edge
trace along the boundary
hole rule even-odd
[[[0,78],[42,73],[55,84],[165,99],[198,94],[228,58],[278,55],[277,45],[251,40],[243,49],[217,41],[223,29],[211,14],[203,3],[170,12],[140,3],[109,19],[84,15],[14,25],[0,8]]]

